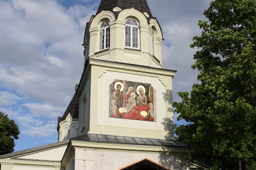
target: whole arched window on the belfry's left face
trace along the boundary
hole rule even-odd
[[[104,21],[100,25],[100,50],[110,47],[110,29],[109,21]]]

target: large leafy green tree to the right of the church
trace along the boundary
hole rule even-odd
[[[191,48],[199,70],[190,92],[174,102],[178,140],[187,143],[188,159],[212,169],[256,169],[256,2],[216,0],[199,20],[201,36]]]

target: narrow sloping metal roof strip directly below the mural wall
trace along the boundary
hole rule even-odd
[[[148,138],[132,138],[132,137],[119,137],[114,135],[103,134],[84,134],[70,140],[93,141],[93,142],[111,142],[111,143],[124,143],[130,145],[150,145],[150,146],[165,146],[165,147],[183,147],[187,148],[185,143],[175,140],[163,139],[148,139]]]

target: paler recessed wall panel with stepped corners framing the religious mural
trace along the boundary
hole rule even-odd
[[[156,110],[156,119],[159,121],[147,122],[109,117],[108,112],[106,112],[109,111],[109,84],[113,83],[115,80],[143,82],[151,84],[151,86],[157,91],[155,105],[156,108],[154,109]],[[162,124],[163,119],[166,117],[166,104],[163,98],[165,87],[158,78],[107,71],[105,74],[102,75],[102,77],[98,78],[98,81],[98,117],[94,114],[92,115],[92,119],[95,118],[98,120],[97,126],[105,127],[97,128],[97,126],[95,126],[95,128],[97,128],[96,133],[123,136],[127,135],[129,137],[147,137],[156,139],[163,139],[165,137],[166,132],[164,131],[164,126]],[[104,84],[104,86],[102,86],[101,84]],[[126,91],[124,91],[124,93],[125,92]],[[91,129],[90,132],[93,133],[93,130]]]

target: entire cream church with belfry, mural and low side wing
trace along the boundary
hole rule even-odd
[[[58,142],[2,155],[1,170],[210,169],[174,138],[165,95],[176,71],[162,69],[163,40],[146,0],[101,0]]]

